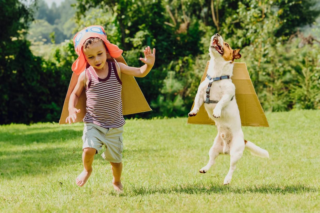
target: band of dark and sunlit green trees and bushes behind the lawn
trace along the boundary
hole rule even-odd
[[[7,2],[7,1],[6,1]],[[314,0],[11,0],[0,11],[0,123],[57,122],[76,59],[73,35],[102,25],[131,66],[145,46],[156,64],[137,78],[153,111],[186,116],[220,33],[241,48],[265,111],[320,108],[320,3]]]

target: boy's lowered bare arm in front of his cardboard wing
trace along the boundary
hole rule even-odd
[[[68,105],[69,116],[66,119],[66,123],[69,123],[69,124],[71,124],[71,119],[73,120],[73,122],[75,122],[77,113],[80,112],[80,109],[76,109],[75,106],[77,105],[79,97],[84,88],[84,80],[83,80],[84,73],[85,72],[80,73],[76,87],[73,89],[70,95],[69,105]]]

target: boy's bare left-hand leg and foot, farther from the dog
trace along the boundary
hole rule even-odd
[[[96,154],[95,148],[84,148],[82,153],[82,161],[83,161],[83,171],[81,174],[76,178],[76,184],[78,186],[83,186],[92,172],[92,162],[94,159],[94,155]]]

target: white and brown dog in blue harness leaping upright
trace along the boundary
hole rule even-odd
[[[269,157],[268,151],[244,140],[239,109],[234,96],[235,85],[230,79],[234,59],[241,58],[239,51],[240,49],[231,49],[219,34],[211,37],[209,47],[211,59],[207,78],[200,84],[195,105],[188,114],[188,116],[196,116],[200,106],[204,103],[209,117],[216,123],[218,134],[209,150],[210,159],[208,164],[200,169],[200,172],[206,173],[220,153],[229,154],[230,169],[223,181],[224,185],[230,183],[236,163],[242,157],[244,148],[248,148],[253,155]]]

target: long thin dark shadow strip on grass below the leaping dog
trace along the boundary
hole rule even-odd
[[[260,193],[260,194],[303,194],[317,193],[319,189],[310,187],[304,184],[290,185],[255,185],[255,186],[223,186],[216,183],[193,183],[193,184],[178,184],[174,186],[161,187],[157,186],[135,186],[130,184],[120,196],[133,197],[148,194],[245,194],[245,193]],[[115,194],[111,192],[111,194]]]

